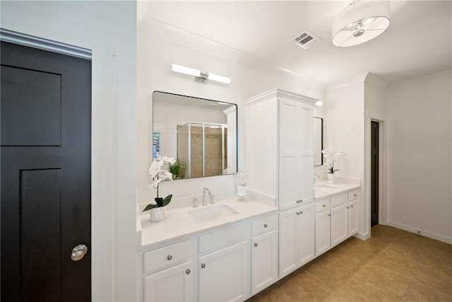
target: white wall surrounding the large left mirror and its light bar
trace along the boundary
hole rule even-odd
[[[150,182],[148,167],[152,154],[152,93],[165,91],[200,98],[224,100],[238,105],[239,156],[238,167],[244,167],[244,108],[242,100],[268,91],[283,88],[323,100],[322,83],[304,79],[294,74],[272,69],[267,62],[255,62],[224,45],[218,45],[184,30],[173,28],[153,19],[146,18],[138,28],[138,150],[137,150],[137,192],[138,203],[150,202],[155,190],[148,188]],[[196,83],[191,76],[171,71],[171,64],[190,66],[202,71],[228,76],[230,85],[221,83]],[[177,180],[162,183],[162,194],[173,194],[174,198],[202,194],[203,187],[213,192],[231,190],[234,187],[232,175],[213,178]]]

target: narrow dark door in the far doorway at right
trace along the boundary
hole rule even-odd
[[[379,123],[371,122],[371,226],[379,223]]]

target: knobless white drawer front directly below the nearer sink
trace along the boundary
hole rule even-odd
[[[203,254],[209,250],[220,248],[225,245],[244,240],[248,236],[247,223],[239,223],[229,228],[223,228],[220,231],[213,231],[206,235],[199,236],[199,253]]]

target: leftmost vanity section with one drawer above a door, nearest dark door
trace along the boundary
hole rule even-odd
[[[186,239],[143,253],[144,301],[196,301],[193,241]]]

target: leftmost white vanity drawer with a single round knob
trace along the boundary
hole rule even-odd
[[[156,269],[176,264],[191,257],[191,240],[150,250],[144,253],[144,273],[153,272]]]

